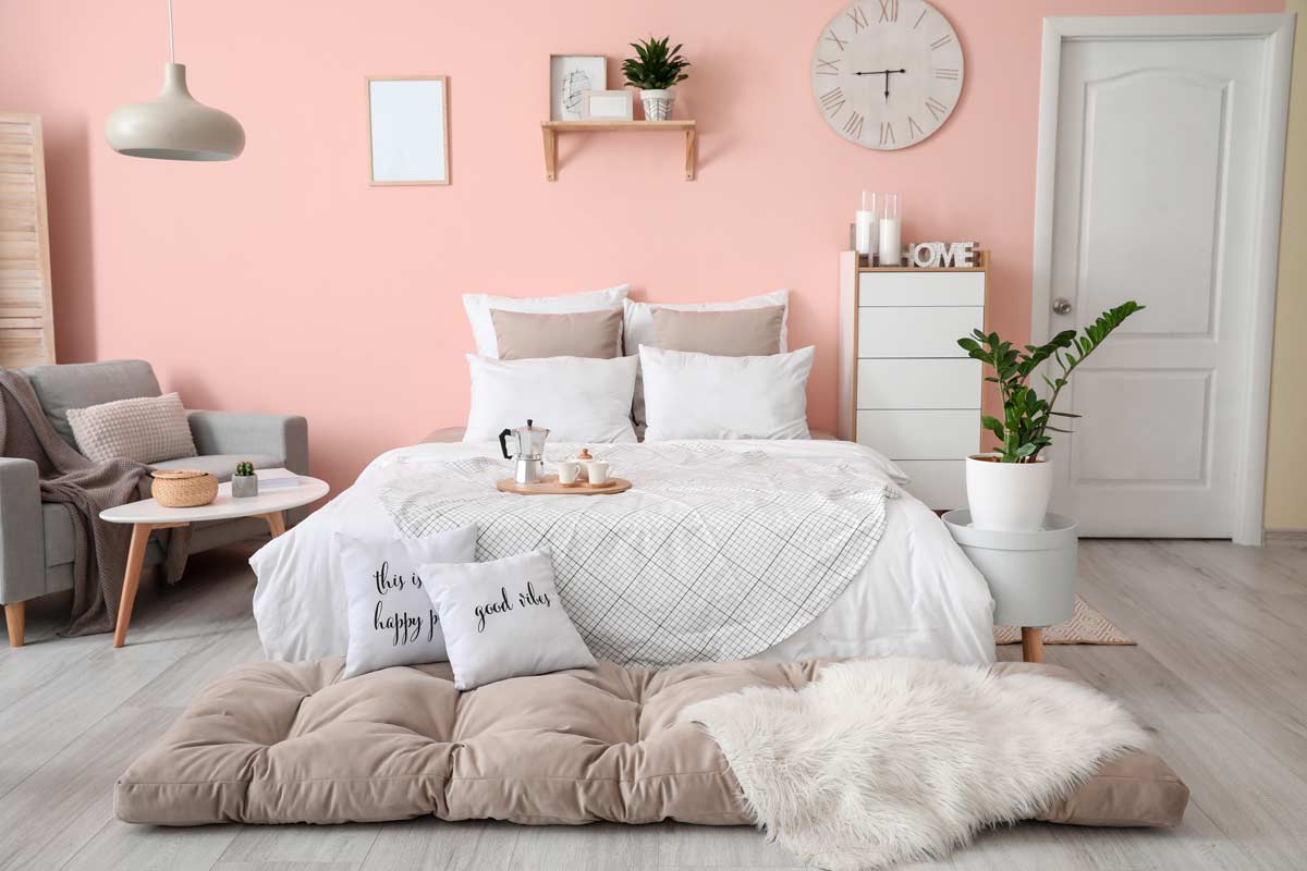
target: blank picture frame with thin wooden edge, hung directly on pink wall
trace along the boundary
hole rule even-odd
[[[370,184],[450,183],[446,76],[369,76]]]

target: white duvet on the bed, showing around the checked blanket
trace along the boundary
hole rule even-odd
[[[765,449],[791,460],[865,464],[890,481],[898,470],[847,441],[715,441],[725,451]],[[344,656],[345,594],[331,560],[331,537],[389,537],[395,524],[379,492],[408,467],[495,456],[498,444],[440,443],[400,448],[374,460],[353,487],[251,559],[259,577],[254,615],[269,659]],[[505,464],[506,474],[508,464]],[[621,470],[614,470],[621,474]],[[816,620],[757,654],[762,659],[911,656],[987,663],[995,658],[993,602],[980,573],[944,524],[907,494],[886,501],[881,541],[855,578]]]

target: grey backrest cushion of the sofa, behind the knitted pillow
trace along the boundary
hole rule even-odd
[[[24,370],[37,390],[41,407],[64,441],[77,447],[68,409],[85,409],[116,400],[158,396],[159,383],[145,360],[60,363]]]

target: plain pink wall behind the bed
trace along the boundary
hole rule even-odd
[[[810,417],[835,414],[836,252],[855,195],[904,196],[904,238],[993,252],[992,324],[1021,338],[1043,16],[1278,12],[1281,0],[937,0],[966,51],[962,103],[929,141],[864,150],[818,118],[808,63],[823,3],[176,1],[192,91],[233,112],[235,162],[114,154],[105,118],[153,95],[162,0],[0,3],[0,107],[44,116],[61,360],[144,356],[192,407],[310,419],[314,470],[348,483],[376,453],[459,424],[472,337],[459,294],[631,282],[654,300],[793,289],[816,343]],[[674,136],[570,136],[544,179],[550,52],[684,42]],[[454,184],[366,184],[363,77],[450,76]]]

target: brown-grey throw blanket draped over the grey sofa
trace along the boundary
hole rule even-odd
[[[21,372],[0,370],[0,456],[35,462],[41,501],[63,504],[73,520],[73,606],[63,633],[107,632],[118,616],[132,530],[101,520],[99,512],[149,498],[149,466],[131,460],[94,462],[77,453],[55,432]],[[190,539],[190,528],[169,535],[170,582],[182,575]]]

